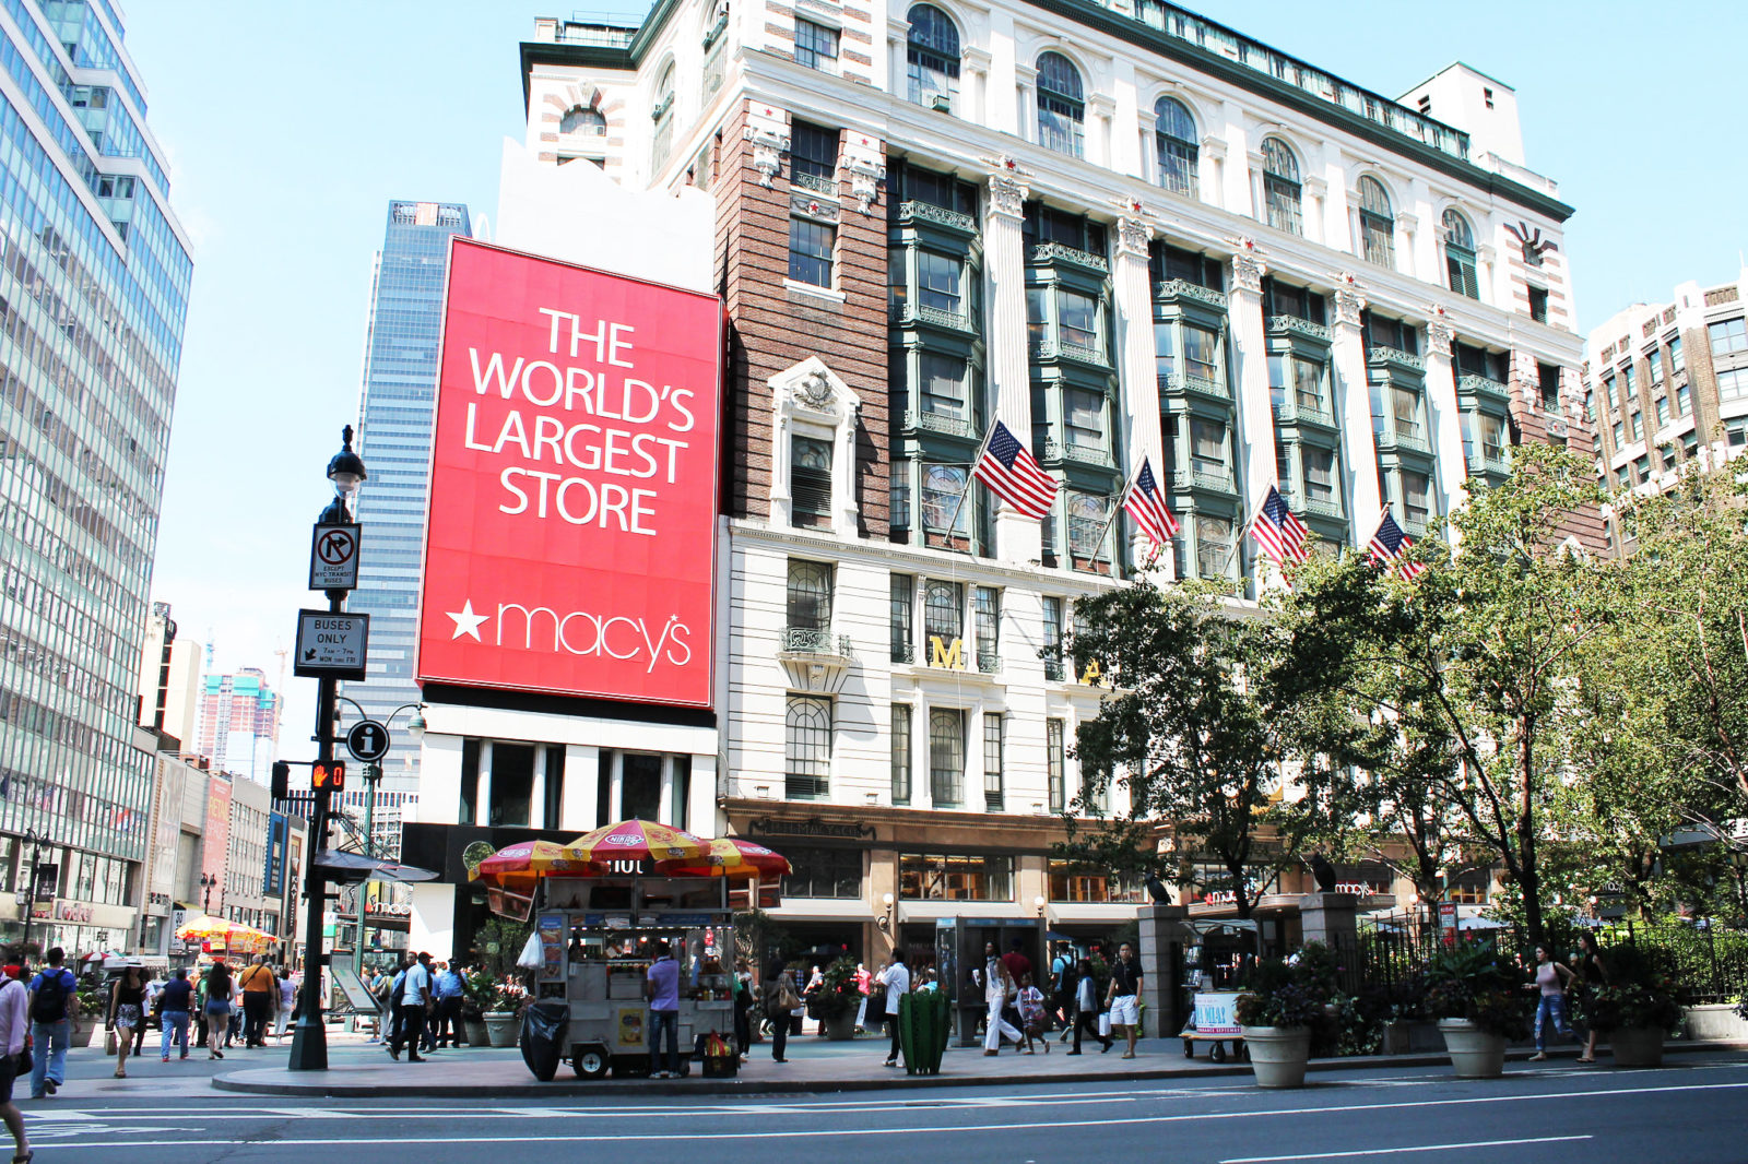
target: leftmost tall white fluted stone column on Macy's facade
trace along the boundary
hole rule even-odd
[[[984,211],[984,302],[989,304],[989,400],[1000,419],[1021,444],[1031,447],[1031,362],[1026,353],[1026,253],[1021,239],[1024,220],[1024,173],[1009,159],[989,177]],[[996,556],[1024,565],[1042,556],[1044,530],[1037,521],[1005,502],[995,519]]]

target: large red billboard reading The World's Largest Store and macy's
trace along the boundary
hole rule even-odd
[[[456,238],[418,678],[710,706],[722,308]]]

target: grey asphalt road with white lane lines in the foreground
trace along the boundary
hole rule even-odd
[[[1669,1056],[1659,1070],[1510,1064],[1505,1078],[1482,1082],[1458,1082],[1447,1068],[1321,1071],[1290,1092],[1203,1078],[489,1106],[227,1096],[206,1089],[217,1064],[196,1059],[177,1064],[175,1077],[154,1070],[135,1087],[107,1071],[98,1077],[94,1054],[79,1057],[84,1063],[72,1064],[56,1099],[24,1103],[45,1164],[229,1164],[336,1152],[364,1152],[372,1164],[573,1164],[647,1157],[652,1148],[666,1159],[697,1152],[711,1164],[1748,1161],[1748,1054],[1741,1052]],[[225,1064],[239,1057],[231,1052]]]

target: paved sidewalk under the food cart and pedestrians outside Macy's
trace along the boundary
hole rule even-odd
[[[1669,1052],[1718,1050],[1727,1043],[1669,1043]],[[949,1047],[940,1061],[940,1075],[905,1075],[898,1068],[881,1066],[886,1057],[886,1040],[858,1038],[848,1043],[827,1043],[809,1038],[792,1038],[788,1063],[773,1063],[767,1043],[753,1047],[753,1056],[734,1078],[703,1078],[696,1071],[682,1080],[605,1078],[579,1080],[568,1064],[559,1064],[551,1084],[538,1082],[514,1049],[463,1047],[439,1050],[427,1063],[400,1063],[379,1047],[330,1047],[327,1071],[287,1071],[283,1064],[243,1068],[213,1077],[220,1091],[269,1096],[423,1096],[432,1099],[454,1098],[568,1098],[568,1096],[738,1096],[738,1094],[794,1094],[874,1091],[886,1087],[977,1087],[993,1084],[1065,1084],[1197,1078],[1210,1075],[1250,1077],[1248,1063],[1215,1064],[1201,1050],[1196,1059],[1183,1057],[1183,1043],[1176,1038],[1143,1038],[1134,1059],[1124,1059],[1120,1045],[1110,1054],[1099,1054],[1098,1043],[1086,1043],[1080,1056],[1066,1054],[1068,1047],[1052,1043],[1051,1052],[1024,1056],[1003,1050],[986,1057],[981,1047]],[[1512,1061],[1528,1059],[1530,1049],[1512,1050]],[[1550,1052],[1554,1061],[1571,1063],[1575,1049]],[[1313,1061],[1313,1071],[1430,1066],[1449,1063],[1444,1054],[1362,1056]],[[239,1064],[241,1066],[241,1064]],[[1571,1064],[1575,1070],[1577,1064]],[[1603,1056],[1596,1066],[1608,1070]]]

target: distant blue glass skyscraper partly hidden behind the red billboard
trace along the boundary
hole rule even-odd
[[[358,491],[358,521],[364,523],[358,589],[346,603],[348,610],[371,615],[371,659],[365,682],[344,683],[341,690],[378,720],[420,699],[413,682],[413,652],[418,643],[420,556],[430,491],[442,290],[449,236],[470,232],[467,206],[390,203],[383,250],[376,259],[364,400],[358,407],[358,454],[371,477]],[[411,717],[404,711],[390,724],[395,743],[383,760],[385,793],[418,792],[420,746],[406,731]],[[392,813],[402,799],[385,795],[378,806]]]

